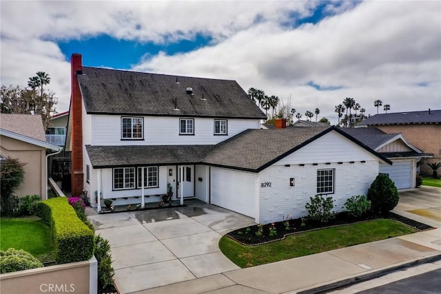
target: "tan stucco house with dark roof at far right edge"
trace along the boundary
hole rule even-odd
[[[401,133],[418,149],[433,154],[432,159],[426,159],[424,162],[441,161],[440,109],[376,114],[362,120],[356,127],[377,127],[388,134]],[[421,171],[431,174],[431,169],[426,165],[421,166]]]

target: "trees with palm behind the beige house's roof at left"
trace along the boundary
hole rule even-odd
[[[28,87],[19,85],[1,85],[0,111],[6,114],[41,115],[43,127],[48,128],[57,98],[54,92],[43,86],[50,83],[45,72],[37,72],[37,76],[29,78]]]

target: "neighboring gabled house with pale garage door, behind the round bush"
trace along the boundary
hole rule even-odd
[[[387,174],[397,189],[415,188],[417,162],[432,157],[411,145],[400,133],[386,134],[376,127],[342,128],[342,131],[393,162],[380,164],[380,173]]]

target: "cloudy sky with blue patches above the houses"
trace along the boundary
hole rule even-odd
[[[1,1],[1,84],[83,65],[234,79],[302,114],[441,109],[441,1]],[[381,111],[382,112],[382,111]],[[305,118],[305,115],[303,115]]]

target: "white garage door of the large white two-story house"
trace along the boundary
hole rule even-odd
[[[212,204],[255,217],[255,174],[212,167],[211,178]]]

